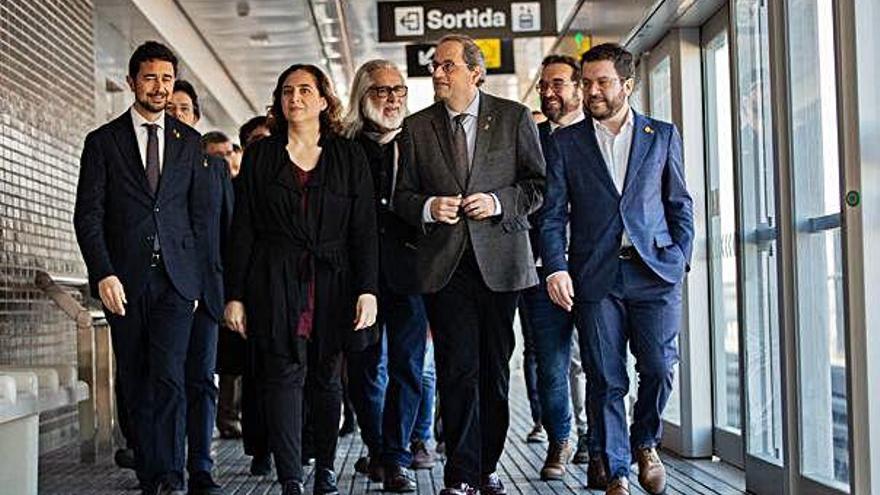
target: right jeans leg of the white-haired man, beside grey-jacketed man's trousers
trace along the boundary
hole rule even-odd
[[[428,320],[421,296],[383,290],[379,324],[388,337],[388,388],[382,414],[382,462],[408,467],[409,442],[422,400]]]

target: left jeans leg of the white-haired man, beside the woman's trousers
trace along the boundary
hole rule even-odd
[[[387,342],[382,333],[379,342],[363,351],[349,352],[348,395],[357,415],[361,439],[370,455],[378,455],[382,449],[382,409],[385,388],[388,384]]]

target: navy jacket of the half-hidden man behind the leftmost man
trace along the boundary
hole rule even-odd
[[[226,298],[223,294],[223,247],[232,224],[234,194],[226,160],[208,156],[196,179],[206,216],[204,246],[200,250],[204,259],[202,303],[205,311],[216,321],[223,317]]]

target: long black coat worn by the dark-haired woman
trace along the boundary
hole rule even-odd
[[[286,150],[286,136],[247,148],[235,190],[235,213],[226,272],[226,298],[244,303],[249,338],[274,352],[296,332],[315,280],[312,339],[319,356],[360,350],[376,341],[374,329],[354,331],[359,294],[378,294],[376,210],[370,170],[361,147],[336,136],[323,148],[308,188],[302,190]]]

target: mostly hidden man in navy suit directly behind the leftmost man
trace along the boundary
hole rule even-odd
[[[166,111],[184,124],[195,128],[201,118],[199,97],[189,82],[178,79]],[[197,171],[198,190],[203,193],[207,229],[200,248],[204,264],[202,304],[193,315],[189,349],[186,353],[186,438],[189,495],[214,495],[220,485],[214,482],[211,468],[211,438],[217,415],[217,386],[214,371],[217,364],[217,339],[223,318],[223,263],[220,249],[232,222],[233,194],[230,166],[224,156],[208,153],[208,133],[202,136],[206,158]],[[225,141],[229,138],[223,136]],[[232,143],[229,143],[232,150]]]

